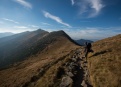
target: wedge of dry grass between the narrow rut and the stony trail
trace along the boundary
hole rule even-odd
[[[53,64],[42,78],[40,78],[33,87],[59,87],[62,77],[65,75],[65,63],[70,60],[70,57],[74,54],[71,51],[66,56],[62,57],[57,63]]]

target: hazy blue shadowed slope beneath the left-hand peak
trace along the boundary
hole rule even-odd
[[[4,37],[0,39],[0,67],[8,66],[14,62],[22,61],[26,57],[37,53],[36,44],[46,34],[47,31],[37,30],[33,32],[23,32],[20,34]],[[40,44],[41,45],[41,44]],[[43,48],[41,47],[41,50]]]

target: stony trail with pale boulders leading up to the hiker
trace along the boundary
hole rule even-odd
[[[60,87],[93,87],[89,80],[87,62],[82,51],[82,48],[76,50],[65,64],[66,75],[62,78]]]

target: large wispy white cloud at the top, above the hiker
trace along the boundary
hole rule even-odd
[[[79,0],[76,5],[80,9],[79,14],[87,18],[98,16],[105,7],[102,0]]]

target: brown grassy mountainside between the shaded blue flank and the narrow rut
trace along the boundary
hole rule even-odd
[[[74,45],[67,38],[58,38],[56,42],[51,43],[45,50],[31,56],[28,60],[0,71],[0,87],[21,87],[26,83],[31,83],[32,77],[38,76],[41,69],[45,69],[46,66],[51,69],[51,64],[56,63],[76,48],[78,46]]]

